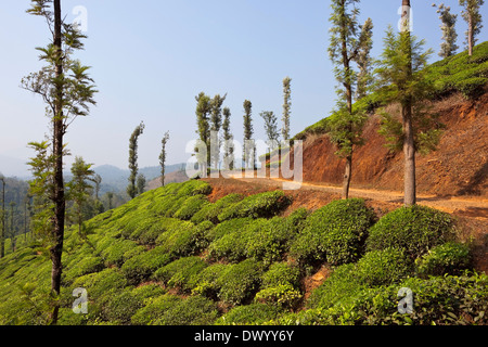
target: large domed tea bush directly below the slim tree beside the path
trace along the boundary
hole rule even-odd
[[[332,202],[307,218],[291,246],[291,255],[300,264],[326,260],[337,266],[357,261],[374,221],[375,215],[363,200]]]

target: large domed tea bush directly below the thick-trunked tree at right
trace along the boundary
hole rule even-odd
[[[448,214],[415,205],[383,216],[370,229],[367,245],[369,250],[402,249],[415,259],[444,243],[451,234],[452,220]]]

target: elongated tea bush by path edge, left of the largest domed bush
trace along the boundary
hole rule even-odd
[[[282,191],[265,192],[245,197],[242,202],[224,208],[218,216],[220,221],[233,218],[270,218],[281,213],[290,200]]]

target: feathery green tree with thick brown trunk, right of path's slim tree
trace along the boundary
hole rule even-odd
[[[404,18],[403,29],[398,35],[391,27],[387,30],[375,74],[384,101],[399,104],[398,115],[383,114],[380,132],[386,137],[390,149],[403,151],[403,203],[412,206],[416,204],[415,154],[436,149],[441,125],[425,107],[432,86],[424,78],[424,68],[432,50],[423,50],[424,41],[411,36],[408,22]]]

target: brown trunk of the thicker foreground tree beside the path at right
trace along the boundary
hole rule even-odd
[[[408,78],[412,76],[412,47],[410,36],[410,0],[402,0],[402,40],[403,48],[407,49],[408,54]],[[413,113],[412,113],[412,98],[408,97],[401,107],[401,118],[403,123],[403,156],[404,156],[404,197],[403,204],[412,206],[416,204],[416,179],[415,179],[415,143],[413,140]]]

